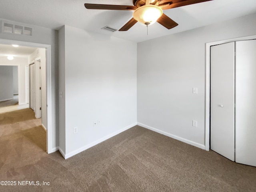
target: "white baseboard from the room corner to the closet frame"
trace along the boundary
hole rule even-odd
[[[173,135],[173,134],[170,134],[170,133],[167,133],[167,132],[164,132],[164,131],[161,131],[159,129],[156,129],[156,128],[153,128],[153,127],[150,127],[148,125],[145,125],[145,124],[142,124],[142,123],[137,123],[138,126],[141,126],[141,127],[144,127],[144,128],[147,128],[149,130],[152,130],[154,132],[158,132],[160,134],[163,134],[165,136],[168,136],[168,137],[171,137],[173,139],[176,139],[176,140],[179,140],[179,141],[182,141],[184,143],[187,143],[187,144],[190,144],[192,146],[195,146],[195,147],[198,147],[200,149],[204,149],[205,150],[205,145],[203,144],[200,144],[200,143],[197,143],[197,142],[194,142],[194,141],[190,141],[188,139],[185,139],[185,138],[182,138],[182,137],[179,137],[179,136],[176,136],[176,135]]]

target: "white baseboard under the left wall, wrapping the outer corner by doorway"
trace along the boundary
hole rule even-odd
[[[103,138],[100,138],[100,139],[98,139],[98,140],[96,140],[96,141],[94,141],[94,142],[92,142],[92,143],[90,143],[90,144],[88,144],[88,145],[86,145],[86,146],[83,146],[83,147],[81,147],[81,148],[79,148],[79,149],[77,149],[77,150],[74,150],[74,151],[72,151],[72,152],[70,152],[70,153],[68,153],[68,154],[65,154],[61,149],[59,149],[59,150],[60,150],[60,153],[62,154],[62,156],[63,156],[65,159],[70,158],[70,157],[72,157],[72,156],[74,156],[74,155],[76,155],[76,154],[78,154],[78,153],[80,153],[80,152],[82,152],[82,151],[84,151],[84,150],[86,150],[86,149],[88,149],[88,148],[91,148],[92,146],[94,146],[94,145],[96,145],[96,144],[99,144],[99,143],[101,143],[101,142],[103,142],[103,141],[105,141],[105,140],[107,140],[107,139],[109,139],[109,138],[111,138],[111,137],[113,137],[113,136],[116,136],[117,134],[120,134],[121,132],[124,132],[124,131],[126,131],[126,130],[128,130],[128,129],[130,129],[130,128],[136,126],[136,125],[137,125],[137,122],[136,122],[136,123],[133,123],[133,124],[130,124],[130,125],[128,125],[128,126],[122,128],[122,129],[120,129],[120,130],[118,130],[118,131],[116,131],[116,132],[113,132],[113,133],[111,133],[111,134],[109,134],[109,135],[107,135],[107,136],[104,136]]]

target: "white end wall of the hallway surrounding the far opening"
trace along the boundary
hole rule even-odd
[[[7,57],[0,57],[0,65],[18,66],[18,94],[19,105],[26,103],[25,70],[28,64],[28,58],[17,58],[8,60]]]

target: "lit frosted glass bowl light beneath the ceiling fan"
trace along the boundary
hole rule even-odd
[[[155,5],[144,5],[137,8],[132,16],[138,22],[148,26],[155,23],[162,14],[163,10],[160,7]]]

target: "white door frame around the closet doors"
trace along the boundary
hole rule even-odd
[[[210,150],[210,46],[243,40],[256,39],[256,35],[206,43],[205,67],[205,150]]]

